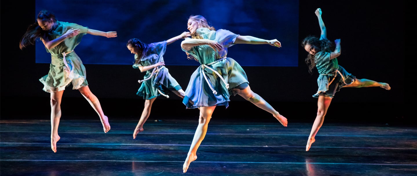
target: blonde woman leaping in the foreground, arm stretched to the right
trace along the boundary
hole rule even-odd
[[[189,59],[195,59],[201,66],[190,78],[183,103],[186,108],[198,108],[200,116],[193,142],[183,164],[184,173],[190,163],[197,159],[197,149],[206,136],[208,122],[216,106],[229,106],[229,93],[242,96],[271,113],[284,127],[287,126],[287,119],[251,90],[246,73],[239,63],[226,56],[227,48],[234,44],[269,44],[281,47],[281,42],[276,39],[241,36],[225,29],[216,31],[201,15],[190,16],[187,26],[191,39],[187,38],[181,42],[181,48]]]

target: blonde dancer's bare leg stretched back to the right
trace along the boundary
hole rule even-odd
[[[282,116],[281,114],[279,114],[279,112],[276,111],[274,108],[272,108],[272,106],[269,105],[269,103],[266,102],[264,100],[264,98],[262,98],[261,96],[259,96],[256,93],[254,93],[249,86],[247,88],[245,88],[244,90],[234,89],[234,91],[236,91],[241,97],[245,98],[246,100],[248,100],[251,103],[253,103],[254,105],[256,105],[258,108],[261,108],[261,109],[271,113],[272,115],[274,115],[274,117],[282,125],[284,125],[284,127],[287,126],[287,124],[288,124],[287,119],[284,116]]]

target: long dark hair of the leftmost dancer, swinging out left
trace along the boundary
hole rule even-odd
[[[38,13],[36,20],[42,20],[43,22],[56,22],[55,15],[48,10],[41,10]],[[52,40],[48,35],[48,31],[44,31],[36,21],[34,24],[30,24],[26,33],[23,34],[20,39],[19,47],[20,49],[25,48],[28,45],[35,45],[36,39],[42,38],[46,41]]]

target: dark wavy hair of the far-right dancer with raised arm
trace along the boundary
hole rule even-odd
[[[328,39],[320,40],[319,38],[315,36],[308,36],[304,38],[304,40],[301,42],[301,46],[304,48],[307,44],[311,46],[316,46],[317,52],[324,51],[324,52],[331,52],[331,49],[333,47],[332,42],[330,42]],[[305,59],[306,64],[309,66],[309,73],[312,73],[312,70],[316,67],[316,61],[315,56],[312,54],[307,54],[307,57]]]

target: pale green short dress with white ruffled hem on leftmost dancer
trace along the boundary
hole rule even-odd
[[[81,38],[87,34],[88,27],[60,21],[57,21],[56,24],[56,28],[48,32],[52,39],[62,36],[71,28],[80,29],[80,33],[74,37],[66,38],[51,49],[45,47],[46,51],[51,54],[51,64],[48,75],[39,79],[43,83],[43,90],[49,93],[58,92],[65,90],[65,87],[68,87],[71,83],[73,89],[88,86],[85,67],[74,51],[75,46],[80,44]]]

